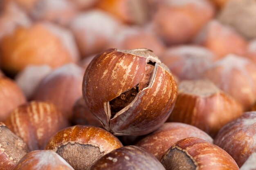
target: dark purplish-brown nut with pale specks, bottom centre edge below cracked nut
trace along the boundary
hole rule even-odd
[[[101,157],[90,170],[165,170],[149,152],[137,146],[124,146]]]

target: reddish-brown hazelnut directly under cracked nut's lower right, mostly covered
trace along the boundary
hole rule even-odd
[[[136,146],[146,149],[160,160],[175,142],[186,137],[199,137],[213,143],[213,139],[206,132],[188,124],[171,122],[165,123],[161,128],[141,139]]]

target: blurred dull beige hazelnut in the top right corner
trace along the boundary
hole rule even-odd
[[[256,38],[256,1],[230,0],[220,11],[218,19],[232,26],[246,38]]]

